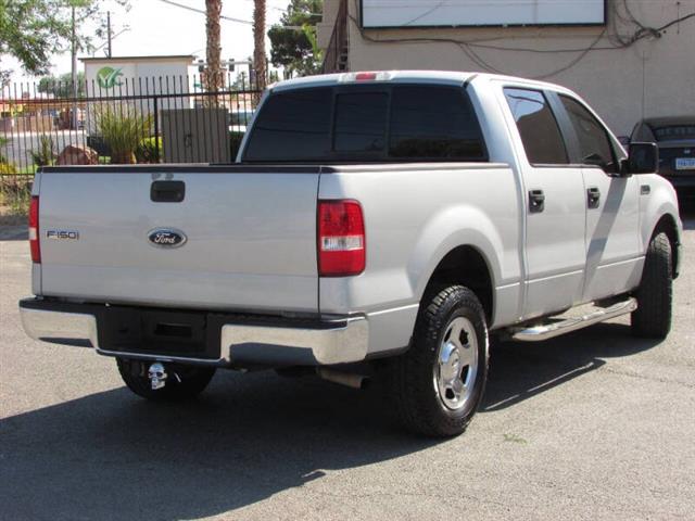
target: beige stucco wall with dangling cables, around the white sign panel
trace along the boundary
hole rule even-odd
[[[338,0],[326,2],[337,4]],[[351,15],[358,20],[358,1],[348,2]],[[647,27],[661,27],[695,12],[695,0],[627,0],[627,4]],[[328,5],[327,11],[334,9]],[[351,71],[454,69],[543,78],[579,92],[618,135],[629,134],[641,117],[695,115],[695,17],[665,29],[659,38],[649,36],[624,48],[616,35],[628,40],[640,28],[630,21],[624,0],[608,0],[605,27],[361,31],[354,20],[349,24]],[[589,48],[593,50],[585,51]]]

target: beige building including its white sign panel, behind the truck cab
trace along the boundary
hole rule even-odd
[[[516,4],[325,0],[318,37],[326,72],[452,69],[544,79],[579,92],[621,136],[642,117],[695,116],[695,0]]]

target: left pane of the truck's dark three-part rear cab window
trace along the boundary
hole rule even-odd
[[[329,88],[273,94],[263,105],[244,161],[316,161],[330,153]]]

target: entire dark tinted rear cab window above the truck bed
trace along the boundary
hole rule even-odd
[[[242,162],[488,162],[463,86],[364,85],[270,94]]]

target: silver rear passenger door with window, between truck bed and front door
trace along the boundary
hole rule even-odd
[[[515,140],[527,203],[525,317],[578,303],[584,282],[585,199],[582,169],[571,165],[546,94],[504,89],[518,130]]]

